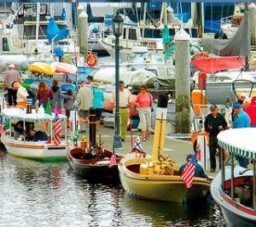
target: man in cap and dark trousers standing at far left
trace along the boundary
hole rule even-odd
[[[3,76],[3,89],[8,91],[8,103],[10,105],[17,105],[17,90],[12,88],[14,82],[20,82],[20,73],[15,71],[15,65],[9,65],[9,70],[5,71]]]

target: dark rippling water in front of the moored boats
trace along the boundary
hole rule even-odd
[[[142,201],[121,185],[91,184],[68,163],[0,151],[0,226],[225,226],[217,205]]]

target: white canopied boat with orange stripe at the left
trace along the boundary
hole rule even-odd
[[[52,128],[52,122],[55,116],[50,116],[44,113],[26,113],[23,109],[11,108],[3,109],[2,116],[6,120],[12,122],[22,121],[24,122],[24,127],[27,122],[49,122],[50,128]],[[55,145],[53,139],[53,129],[50,131],[50,139],[35,140],[26,139],[25,133],[19,138],[15,139],[14,128],[9,126],[1,136],[1,141],[6,147],[7,151],[12,156],[24,157],[27,159],[41,161],[41,162],[63,162],[67,161],[67,151],[70,149],[70,145],[67,144],[67,116],[59,115],[61,121],[65,121],[65,139],[61,139],[61,145]],[[26,130],[24,130],[26,131]],[[43,132],[44,133],[44,132]]]

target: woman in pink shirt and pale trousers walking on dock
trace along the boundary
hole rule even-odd
[[[148,139],[149,127],[151,123],[151,108],[153,106],[153,97],[147,92],[146,84],[140,86],[141,93],[137,95],[135,104],[138,108],[140,125],[142,127],[143,141]]]

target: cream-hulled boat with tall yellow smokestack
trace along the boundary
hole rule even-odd
[[[119,163],[119,177],[125,191],[144,199],[158,201],[198,201],[207,198],[210,182],[207,179],[193,179],[193,185],[186,188],[177,172],[179,165],[166,157],[164,136],[168,97],[160,95],[154,129],[154,147],[151,158],[135,157]]]

